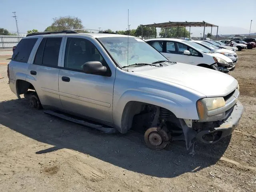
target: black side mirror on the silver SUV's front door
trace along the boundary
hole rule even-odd
[[[107,68],[99,61],[89,61],[83,65],[83,71],[88,74],[104,75]]]

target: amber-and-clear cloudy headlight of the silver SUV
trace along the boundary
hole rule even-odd
[[[208,112],[225,106],[225,100],[223,97],[203,98],[197,101],[196,107],[200,120],[208,120],[211,118],[208,116]],[[223,114],[218,114],[223,116]],[[217,115],[217,116],[218,116]],[[216,117],[216,115],[215,115]]]

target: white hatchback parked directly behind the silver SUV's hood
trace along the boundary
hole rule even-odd
[[[228,73],[233,61],[223,54],[213,52],[193,41],[172,38],[146,40],[168,60],[192,64]]]

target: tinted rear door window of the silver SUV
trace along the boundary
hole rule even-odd
[[[61,41],[62,37],[43,38],[36,52],[34,64],[57,67]]]

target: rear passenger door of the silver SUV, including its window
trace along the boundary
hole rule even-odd
[[[58,63],[64,43],[62,36],[44,37],[40,42],[33,64],[28,67],[28,77],[34,85],[44,108],[62,108],[58,94]]]

